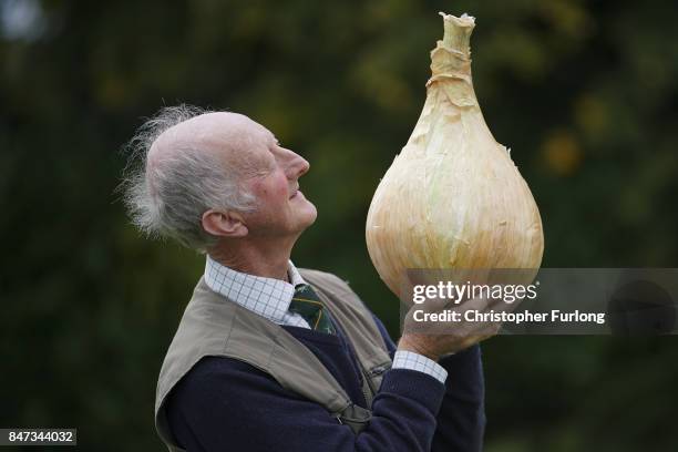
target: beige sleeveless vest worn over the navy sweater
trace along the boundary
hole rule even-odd
[[[368,408],[391,366],[371,312],[338,277],[300,269],[352,345],[363,374]],[[201,278],[167,350],[155,394],[155,427],[171,452],[183,452],[170,430],[165,401],[203,357],[228,357],[269,373],[284,388],[323,405],[359,433],[371,412],[353,404],[316,356],[280,326],[214,292]]]

